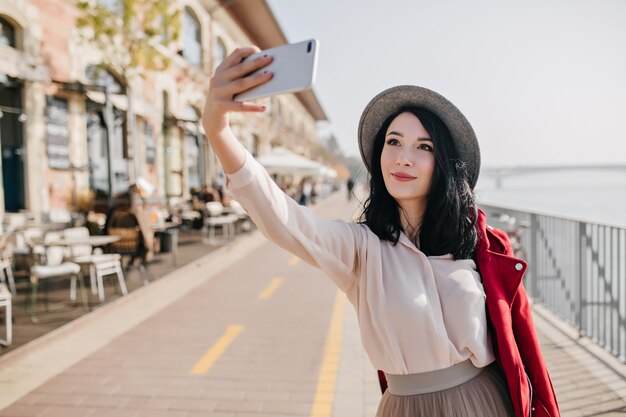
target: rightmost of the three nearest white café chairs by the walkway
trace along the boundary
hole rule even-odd
[[[63,231],[63,237],[66,240],[80,240],[89,237],[89,230],[86,227],[72,227]],[[69,246],[69,258],[72,262],[76,262],[81,266],[89,268],[89,277],[91,279],[91,290],[94,294],[98,293],[100,302],[104,302],[104,282],[106,275],[117,275],[117,281],[120,291],[123,295],[128,294],[126,288],[126,280],[122,271],[122,257],[117,253],[102,254],[94,253],[91,245],[71,245]]]

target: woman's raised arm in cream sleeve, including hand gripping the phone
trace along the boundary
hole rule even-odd
[[[347,291],[356,281],[360,254],[367,245],[364,227],[317,216],[282,192],[265,169],[254,160],[233,134],[230,112],[262,112],[265,106],[239,103],[233,97],[267,82],[272,74],[261,72],[271,58],[242,60],[257,52],[240,48],[217,68],[211,80],[202,122],[209,143],[230,179],[230,189],[261,232],[274,243],[323,269],[339,288]]]

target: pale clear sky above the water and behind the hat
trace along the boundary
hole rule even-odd
[[[483,166],[626,165],[624,0],[268,0],[290,42],[317,38],[314,91],[346,155],[380,91],[452,101]]]

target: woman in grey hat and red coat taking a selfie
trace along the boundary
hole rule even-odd
[[[259,229],[324,270],[355,307],[389,385],[377,416],[558,416],[520,285],[525,263],[474,206],[480,154],[465,117],[420,87],[376,96],[359,123],[371,174],[363,220],[326,220],[288,198],[230,129],[230,112],[265,110],[233,101],[272,76],[247,75],[271,61],[243,61],[256,51],[240,48],[217,68],[204,129]]]

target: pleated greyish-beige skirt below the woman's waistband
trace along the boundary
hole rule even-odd
[[[390,389],[383,394],[376,417],[515,416],[504,374],[495,362],[470,380],[435,392],[396,395],[390,392],[389,382]]]

